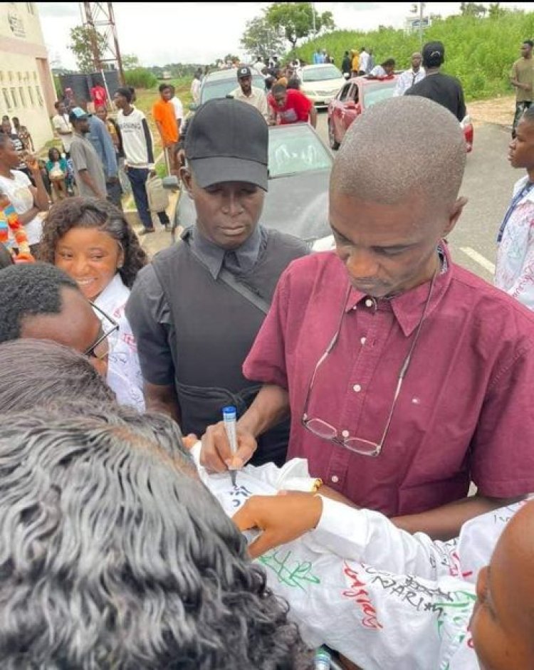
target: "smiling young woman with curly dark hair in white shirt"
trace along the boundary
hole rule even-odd
[[[147,255],[122,212],[105,200],[69,198],[48,214],[39,251],[78,283],[102,331],[93,357],[107,360],[107,380],[120,404],[145,409],[137,347],[125,304]]]

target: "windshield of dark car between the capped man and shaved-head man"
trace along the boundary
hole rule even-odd
[[[307,125],[269,132],[269,178],[332,167],[332,156]]]

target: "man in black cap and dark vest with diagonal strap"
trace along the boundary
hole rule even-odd
[[[189,123],[185,153],[182,197],[194,200],[197,223],[140,271],[126,313],[147,409],[201,436],[225,405],[241,415],[256,397],[259,385],[244,378],[241,366],[278,278],[308,248],[259,225],[268,126],[258,110],[239,100],[209,100]],[[256,464],[283,464],[287,442],[284,422],[263,437]]]

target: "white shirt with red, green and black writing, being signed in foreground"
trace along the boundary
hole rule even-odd
[[[280,471],[246,466],[236,488],[228,473],[199,474],[232,515],[251,495],[291,488],[297,474],[309,491],[306,461],[295,460]],[[258,562],[310,646],[328,644],[365,670],[478,670],[468,632],[476,576],[522,504],[481,515],[444,543],[323,498],[318,528]]]

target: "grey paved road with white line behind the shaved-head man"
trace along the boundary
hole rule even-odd
[[[319,135],[328,144],[327,115],[320,111]],[[522,176],[508,164],[510,132],[500,125],[476,127],[468,154],[461,195],[468,198],[456,229],[449,237],[456,263],[492,281],[496,234],[511,199],[514,182]]]

